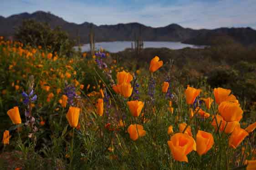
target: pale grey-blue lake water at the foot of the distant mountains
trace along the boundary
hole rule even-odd
[[[95,49],[98,50],[102,47],[111,53],[117,53],[119,51],[123,51],[124,49],[131,48],[131,43],[133,41],[113,41],[113,42],[100,42],[95,43]],[[204,48],[205,46],[196,46],[191,44],[183,44],[180,42],[161,42],[161,41],[143,41],[143,48],[169,48],[169,49],[183,49],[186,47],[190,48]],[[77,49],[77,47],[75,47]],[[82,51],[90,51],[90,44],[84,44],[82,47]]]

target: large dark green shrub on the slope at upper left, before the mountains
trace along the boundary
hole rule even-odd
[[[60,27],[51,29],[49,24],[34,20],[24,20],[16,29],[15,39],[23,44],[41,46],[51,49],[52,52],[58,51],[63,54],[70,54],[74,46],[74,41],[70,40],[68,34]]]

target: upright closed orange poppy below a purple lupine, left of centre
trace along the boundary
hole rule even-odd
[[[77,127],[79,120],[80,108],[78,107],[69,107],[67,112],[67,121],[71,127]]]

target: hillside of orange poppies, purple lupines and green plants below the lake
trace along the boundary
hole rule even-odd
[[[1,37],[0,167],[254,170],[254,54],[232,44],[69,55]]]

